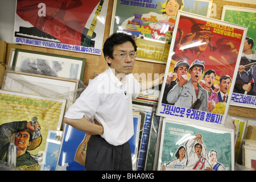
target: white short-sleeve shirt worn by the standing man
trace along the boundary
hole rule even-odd
[[[104,127],[101,137],[114,146],[121,145],[134,134],[131,100],[138,97],[140,90],[141,85],[133,75],[126,75],[126,84],[122,84],[111,68],[106,69],[89,81],[65,117],[95,118]]]

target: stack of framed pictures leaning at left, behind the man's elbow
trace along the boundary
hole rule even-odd
[[[0,90],[1,160],[26,170],[56,169],[64,112],[76,100],[85,60],[24,49],[10,53]],[[28,134],[32,144],[20,146]],[[16,147],[24,147],[24,155]]]

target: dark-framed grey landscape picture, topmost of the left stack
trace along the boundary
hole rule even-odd
[[[15,49],[12,69],[17,72],[82,80],[84,58]]]

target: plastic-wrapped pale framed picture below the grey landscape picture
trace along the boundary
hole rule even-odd
[[[67,99],[73,102],[76,99],[75,91],[78,85],[78,80],[6,71],[2,89],[46,97],[60,97],[61,94],[68,94]]]

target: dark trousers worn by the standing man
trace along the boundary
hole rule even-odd
[[[100,135],[92,135],[86,149],[86,171],[131,171],[131,149],[129,142],[113,146]]]

